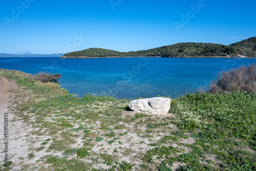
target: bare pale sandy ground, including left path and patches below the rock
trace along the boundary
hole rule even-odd
[[[168,116],[142,116],[137,120],[132,120],[136,114],[133,111],[124,111],[121,115],[121,122],[118,124],[107,125],[106,128],[102,129],[102,120],[86,123],[82,120],[74,121],[72,124],[72,129],[79,128],[79,125],[84,125],[85,127],[91,127],[91,132],[94,135],[85,136],[83,130],[71,131],[71,128],[59,130],[59,134],[71,134],[70,136],[56,136],[49,134],[49,129],[46,127],[41,127],[40,124],[34,124],[38,119],[35,113],[28,113],[24,110],[23,114],[16,112],[17,106],[22,106],[26,104],[29,100],[35,99],[31,91],[27,91],[24,87],[19,87],[14,81],[8,81],[6,78],[1,77],[0,79],[0,105],[1,105],[1,125],[0,125],[0,135],[1,135],[1,154],[0,158],[3,159],[6,153],[3,152],[5,148],[4,145],[4,114],[8,113],[8,157],[9,161],[12,161],[11,170],[49,170],[54,169],[51,162],[46,162],[50,157],[63,158],[63,153],[66,148],[52,149],[50,146],[57,141],[63,140],[63,138],[70,138],[70,144],[65,144],[69,146],[70,149],[79,149],[84,143],[89,140],[91,142],[90,156],[80,159],[81,161],[91,163],[91,168],[96,169],[108,169],[111,168],[111,164],[106,162],[107,160],[102,157],[104,155],[113,155],[112,158],[115,161],[129,162],[134,164],[133,169],[136,170],[136,166],[141,163],[141,155],[145,154],[147,151],[153,148],[152,145],[155,142],[160,141],[165,136],[165,131],[171,129],[176,131],[176,126],[174,124],[168,124],[164,126],[165,129],[155,129],[155,135],[152,133],[145,133],[148,129],[145,125],[140,123],[146,122],[146,120],[154,120],[155,122],[162,122],[163,119],[168,119],[172,117],[172,114]],[[36,97],[38,100],[39,98]],[[39,100],[40,101],[40,100]],[[58,112],[58,111],[57,111]],[[78,112],[78,111],[77,111]],[[60,113],[58,113],[60,114]],[[104,120],[104,116],[101,115]],[[25,119],[26,118],[26,119]],[[72,117],[70,117],[72,118]],[[68,119],[68,117],[66,118]],[[51,118],[45,118],[44,121],[49,121],[54,125],[54,120]],[[87,119],[86,121],[88,121]],[[56,120],[55,120],[56,121]],[[57,122],[57,121],[56,121]],[[139,123],[140,122],[140,123]],[[103,123],[104,124],[104,123]],[[117,129],[117,125],[122,127]],[[168,129],[166,128],[168,127]],[[113,130],[113,131],[111,131]],[[66,132],[66,133],[65,133]],[[111,135],[113,134],[113,135]],[[95,138],[103,137],[103,141],[95,141]],[[114,138],[114,141],[112,140]],[[47,142],[42,145],[42,142]],[[113,142],[110,142],[113,141]],[[178,147],[179,143],[193,144],[195,140],[193,138],[180,139],[177,143],[173,143],[173,147]],[[51,150],[49,150],[49,147]],[[185,146],[180,147],[183,153],[188,152]],[[67,150],[66,150],[67,152]],[[101,158],[101,159],[100,159]],[[104,158],[104,159],[103,159]],[[68,159],[77,159],[77,154],[71,154]],[[156,159],[159,160],[159,159]],[[159,160],[160,162],[160,160]],[[172,169],[178,167],[181,163],[175,163]],[[59,166],[58,166],[59,167]]]

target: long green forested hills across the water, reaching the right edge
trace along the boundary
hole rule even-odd
[[[101,48],[90,48],[82,51],[64,54],[61,58],[84,58],[84,57],[196,57],[218,56],[225,54],[244,54],[248,56],[256,54],[256,37],[251,37],[229,46],[211,43],[182,42],[174,45],[163,46],[155,49],[119,52]]]

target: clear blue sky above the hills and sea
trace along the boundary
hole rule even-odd
[[[230,45],[256,36],[255,16],[255,0],[2,0],[0,53]]]

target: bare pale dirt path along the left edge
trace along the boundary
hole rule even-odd
[[[15,96],[13,92],[20,91],[20,88],[14,81],[8,81],[4,77],[0,77],[0,136],[1,136],[1,144],[0,144],[0,163],[4,163],[4,157],[8,154],[8,161],[18,161],[19,157],[25,157],[26,151],[28,150],[28,145],[26,142],[22,140],[26,131],[22,120],[19,120],[16,116],[14,116],[12,106],[12,101],[15,100]],[[4,137],[4,115],[8,114],[8,136]],[[5,115],[6,116],[6,115]],[[5,140],[7,139],[7,141]],[[8,144],[4,144],[8,142]],[[7,148],[8,149],[7,149]],[[8,152],[5,153],[4,150]],[[21,159],[21,158],[20,158]],[[18,169],[18,168],[16,168]],[[15,170],[15,169],[14,169]]]

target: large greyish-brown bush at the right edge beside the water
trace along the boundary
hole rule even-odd
[[[209,93],[256,92],[256,63],[221,72],[209,86]]]

